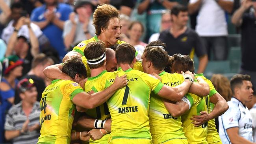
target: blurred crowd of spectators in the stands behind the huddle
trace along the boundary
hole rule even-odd
[[[241,30],[239,73],[249,74],[255,87],[256,2],[241,0],[239,7],[236,3],[237,0],[0,0],[0,143],[26,139],[33,142],[38,137],[38,101],[50,84],[43,70],[61,63],[74,46],[95,36],[92,14],[100,4],[119,9],[119,40],[132,44],[142,54],[147,43],[160,39],[169,55],[180,53],[192,59],[196,55],[197,73],[204,72],[210,57],[217,61],[228,58],[228,23],[234,24],[238,33]],[[198,13],[195,30],[188,24],[189,15],[194,13]],[[142,14],[145,20],[136,17]],[[227,17],[232,17],[231,21]],[[224,93],[221,95],[230,100],[231,90]]]

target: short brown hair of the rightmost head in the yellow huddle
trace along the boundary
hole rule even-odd
[[[173,59],[172,69],[174,72],[186,72],[187,70],[190,72],[195,71],[194,61],[189,55],[174,54]]]

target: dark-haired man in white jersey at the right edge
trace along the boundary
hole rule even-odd
[[[219,117],[219,135],[223,144],[254,144],[252,117],[246,102],[252,100],[252,83],[249,75],[237,74],[230,80],[234,97],[228,101],[229,109]]]

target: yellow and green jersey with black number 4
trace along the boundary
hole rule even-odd
[[[48,85],[40,101],[41,135],[38,143],[69,144],[76,107],[74,96],[84,92],[74,81],[56,79]]]

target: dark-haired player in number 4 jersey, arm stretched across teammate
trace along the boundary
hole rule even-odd
[[[108,89],[92,95],[83,91],[78,84],[86,78],[86,69],[79,57],[72,57],[63,64],[62,72],[72,81],[56,79],[42,94],[41,135],[38,143],[70,143],[71,127],[76,106],[92,109],[106,102],[117,89],[127,85],[126,76],[116,78]],[[76,106],[75,106],[76,105]]]

